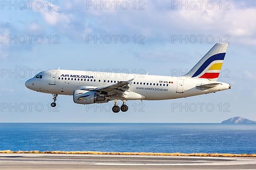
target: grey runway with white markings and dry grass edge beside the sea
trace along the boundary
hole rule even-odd
[[[243,170],[256,158],[1,153],[1,170]]]

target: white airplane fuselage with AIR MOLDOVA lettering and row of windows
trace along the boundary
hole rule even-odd
[[[97,88],[112,85],[119,81],[131,80],[129,92],[140,94],[143,100],[165,100],[177,99],[188,96],[209,94],[230,88],[230,85],[223,82],[216,87],[200,89],[196,86],[216,83],[209,79],[190,77],[169,77],[140,74],[120,74],[110,72],[53,70],[40,73],[41,79],[32,78],[26,82],[26,87],[42,93],[73,95],[74,90],[79,87]],[[128,92],[128,93],[129,93]],[[118,99],[118,98],[117,98]],[[127,98],[135,100],[136,97]]]

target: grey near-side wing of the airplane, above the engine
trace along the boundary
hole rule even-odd
[[[118,96],[123,96],[126,91],[129,91],[129,84],[131,84],[131,81],[134,79],[130,79],[128,81],[120,81],[112,85],[106,85],[103,87],[99,88],[83,88],[81,90],[86,90],[86,91],[94,91],[99,94],[103,94],[106,96],[111,96],[111,95],[118,95]]]

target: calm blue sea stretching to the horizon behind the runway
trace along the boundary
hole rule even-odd
[[[0,150],[256,153],[256,124],[0,123]]]

